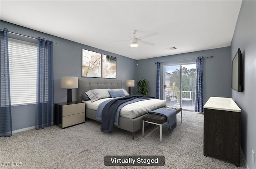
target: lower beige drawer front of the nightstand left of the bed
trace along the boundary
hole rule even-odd
[[[62,128],[85,122],[85,113],[78,113],[63,117]]]

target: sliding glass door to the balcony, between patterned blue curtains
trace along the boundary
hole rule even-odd
[[[196,63],[164,65],[164,99],[168,106],[194,110]]]

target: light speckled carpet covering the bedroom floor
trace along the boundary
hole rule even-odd
[[[196,112],[177,114],[177,127],[168,134],[163,125],[162,143],[159,126],[149,124],[132,134],[114,128],[112,134],[100,132],[100,123],[86,119],[84,124],[60,129],[51,126],[28,130],[0,138],[0,164],[21,169],[245,169],[234,163],[203,155],[204,115]],[[164,155],[164,166],[105,166],[105,155]],[[3,166],[22,163],[22,167]]]

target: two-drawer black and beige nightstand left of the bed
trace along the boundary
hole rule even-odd
[[[85,103],[54,104],[54,124],[60,128],[67,128],[85,122]]]

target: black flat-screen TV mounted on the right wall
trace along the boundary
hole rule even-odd
[[[242,85],[242,53],[240,49],[232,61],[232,89],[238,92],[243,91]]]

